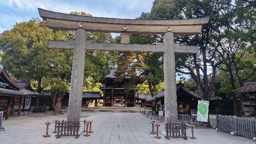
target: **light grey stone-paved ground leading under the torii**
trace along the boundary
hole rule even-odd
[[[150,118],[141,113],[131,112],[82,112],[81,120],[94,120],[90,137],[61,137],[56,139],[54,120],[66,119],[56,116],[21,116],[3,121],[6,131],[0,131],[0,144],[255,144],[252,139],[230,136],[212,129],[195,129],[196,140],[155,139],[149,134]],[[88,117],[87,117],[88,116]],[[85,118],[87,117],[87,118]],[[50,138],[43,138],[45,122],[51,122]],[[164,125],[160,124],[160,131]],[[82,128],[80,128],[82,130]],[[191,136],[191,129],[187,135]]]

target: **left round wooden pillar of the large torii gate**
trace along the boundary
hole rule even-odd
[[[86,30],[78,28],[76,30],[76,48],[74,48],[72,64],[67,121],[80,121],[84,80],[85,41]]]

